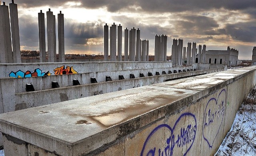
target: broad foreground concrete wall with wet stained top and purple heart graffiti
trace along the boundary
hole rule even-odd
[[[253,66],[0,114],[5,154],[211,156],[255,84]]]

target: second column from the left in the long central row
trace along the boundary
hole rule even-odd
[[[110,26],[110,61],[116,61],[116,24]]]

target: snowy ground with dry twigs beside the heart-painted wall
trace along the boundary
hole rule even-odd
[[[256,156],[256,87],[236,113],[215,156]]]

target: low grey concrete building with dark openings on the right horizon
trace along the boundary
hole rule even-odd
[[[238,50],[230,48],[227,50],[207,50],[205,54],[205,63],[227,64],[236,66],[238,61]]]

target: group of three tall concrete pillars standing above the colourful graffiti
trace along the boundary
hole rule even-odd
[[[55,15],[50,10],[46,12],[46,27],[47,27],[47,47],[48,47],[48,62],[57,62],[56,56],[56,20]],[[38,30],[39,30],[39,52],[40,62],[46,62],[46,40],[45,40],[45,22],[44,13],[42,10],[38,13]],[[64,14],[58,14],[58,62],[65,62],[64,49]]]

